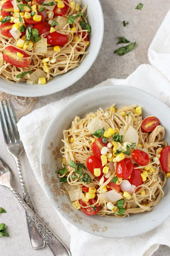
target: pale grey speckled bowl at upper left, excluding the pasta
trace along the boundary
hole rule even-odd
[[[100,51],[104,33],[104,18],[99,0],[82,0],[82,6],[88,4],[88,23],[91,26],[89,53],[82,63],[66,74],[54,77],[45,85],[27,83],[9,83],[0,79],[0,91],[17,96],[39,97],[62,91],[77,82],[91,68]]]

